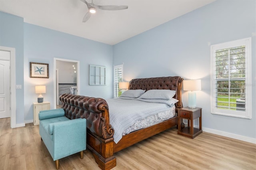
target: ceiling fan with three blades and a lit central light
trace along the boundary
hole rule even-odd
[[[83,18],[83,22],[86,22],[87,20],[89,20],[91,14],[94,14],[96,12],[96,9],[100,9],[100,10],[125,10],[128,8],[127,5],[96,5],[93,3],[88,3],[86,0],[81,0],[82,2],[84,2],[87,5],[88,8],[88,12],[85,14],[84,18]]]

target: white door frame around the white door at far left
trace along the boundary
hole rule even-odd
[[[16,64],[15,48],[0,46],[1,51],[9,51],[10,58],[10,119],[11,128],[16,128]],[[2,59],[2,58],[0,58]],[[4,59],[6,60],[6,59]]]

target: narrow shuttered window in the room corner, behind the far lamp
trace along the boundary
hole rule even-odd
[[[123,81],[123,65],[114,66],[114,97],[120,97],[122,90],[119,89],[119,82]]]

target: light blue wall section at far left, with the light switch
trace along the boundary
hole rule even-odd
[[[16,124],[24,123],[23,18],[0,12],[0,46],[15,48],[16,53]]]

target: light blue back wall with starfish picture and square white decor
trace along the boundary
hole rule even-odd
[[[24,23],[24,118],[33,119],[35,85],[46,85],[44,101],[54,108],[54,57],[80,61],[80,95],[112,98],[112,45]],[[30,62],[48,63],[49,79],[30,78]],[[89,64],[106,66],[106,86],[89,85]]]

